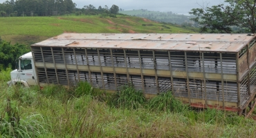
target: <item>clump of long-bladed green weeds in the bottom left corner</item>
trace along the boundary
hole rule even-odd
[[[40,114],[21,117],[15,102],[6,100],[6,109],[0,118],[0,132],[2,137],[38,137],[47,131],[44,118]]]

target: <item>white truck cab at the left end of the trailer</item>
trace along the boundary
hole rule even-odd
[[[10,72],[11,81],[8,81],[8,86],[20,84],[22,86],[37,85],[37,75],[33,61],[32,52],[28,52],[17,59],[15,70]]]

